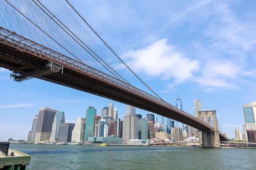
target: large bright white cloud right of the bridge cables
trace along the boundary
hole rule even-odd
[[[166,39],[136,51],[130,50],[122,57],[136,73],[165,80],[173,79],[175,83],[192,79],[193,73],[199,71],[200,65],[197,59],[184,57],[174,46],[169,45]]]

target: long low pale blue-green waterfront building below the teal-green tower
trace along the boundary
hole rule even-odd
[[[122,144],[122,138],[116,137],[88,137],[87,143],[91,144]]]

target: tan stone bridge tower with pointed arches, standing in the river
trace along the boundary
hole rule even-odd
[[[200,136],[200,147],[221,147],[216,111],[199,111],[198,119],[206,119],[207,125],[210,125],[210,118],[213,119],[213,130],[198,130]]]

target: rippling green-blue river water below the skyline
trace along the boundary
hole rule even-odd
[[[10,144],[26,170],[255,170],[256,149]]]

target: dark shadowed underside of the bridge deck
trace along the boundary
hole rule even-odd
[[[44,67],[50,60],[42,59],[33,54],[20,51],[12,46],[0,42],[0,67],[9,69],[14,72],[26,74]],[[177,113],[170,108],[167,108],[157,102],[146,99],[143,96],[138,96],[132,91],[128,91],[111,82],[106,82],[90,74],[82,73],[71,67],[65,66],[63,74],[60,72],[50,74],[39,79],[53,82],[59,85],[64,85],[69,88],[74,88],[90,94],[95,94],[108,99],[112,99],[127,105],[132,105],[136,108],[141,108],[152,113],[157,113],[161,116],[177,120],[186,125],[195,127],[200,130],[211,130],[209,127],[198,123],[189,116]],[[220,133],[221,140],[224,135]]]

